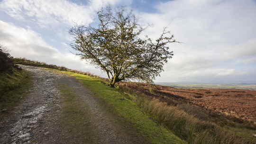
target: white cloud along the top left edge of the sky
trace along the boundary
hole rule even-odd
[[[35,21],[41,27],[53,25],[88,25],[93,22],[95,11],[118,0],[91,0],[88,5],[79,5],[69,0],[3,0],[2,11],[20,20]]]

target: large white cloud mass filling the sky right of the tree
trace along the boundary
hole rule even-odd
[[[158,13],[139,14],[144,23],[154,24],[145,33],[156,38],[168,26],[175,39],[182,42],[170,45],[174,58],[156,81],[198,81],[236,75],[243,70],[232,67],[232,63],[256,57],[253,0],[171,0],[155,7]]]

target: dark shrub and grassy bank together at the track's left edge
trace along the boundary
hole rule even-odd
[[[23,99],[24,91],[31,85],[30,75],[18,68],[0,45],[0,112],[11,109]]]

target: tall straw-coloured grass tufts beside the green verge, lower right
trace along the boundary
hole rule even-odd
[[[137,99],[137,103],[159,124],[172,130],[189,144],[254,144],[208,121],[202,121],[178,107],[158,99]]]

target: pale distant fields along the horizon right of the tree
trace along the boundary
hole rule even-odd
[[[206,88],[206,89],[242,89],[256,90],[256,84],[177,84],[177,83],[157,83],[174,88]]]

